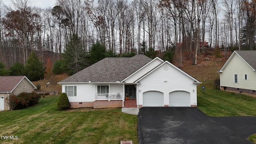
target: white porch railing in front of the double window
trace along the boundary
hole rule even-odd
[[[124,94],[94,94],[95,100],[124,100]]]

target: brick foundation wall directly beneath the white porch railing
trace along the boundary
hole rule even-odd
[[[118,108],[122,106],[122,100],[97,100],[93,102],[93,108]]]

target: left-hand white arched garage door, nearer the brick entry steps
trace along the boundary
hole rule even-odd
[[[157,91],[144,92],[143,106],[164,106],[164,93]]]

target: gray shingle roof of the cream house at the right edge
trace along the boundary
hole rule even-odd
[[[256,50],[236,50],[236,53],[256,70]]]

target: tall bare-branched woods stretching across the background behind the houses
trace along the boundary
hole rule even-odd
[[[1,3],[0,61],[7,68],[25,65],[32,51],[44,64],[55,62],[74,35],[86,54],[96,42],[118,56],[171,51],[179,67],[183,53],[197,64],[206,49],[255,50],[256,0],[56,0],[44,9],[28,2]]]

